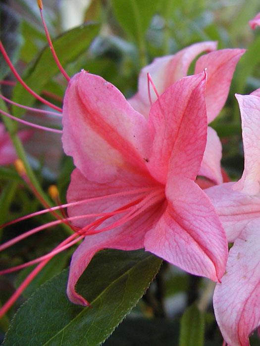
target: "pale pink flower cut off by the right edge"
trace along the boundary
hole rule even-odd
[[[245,168],[237,183],[205,190],[229,242],[226,273],[216,285],[216,320],[230,346],[248,346],[260,326],[260,89],[236,95],[242,119]]]

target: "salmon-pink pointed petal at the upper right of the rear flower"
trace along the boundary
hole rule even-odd
[[[195,73],[207,68],[206,105],[208,123],[213,121],[224,106],[236,64],[245,49],[221,49],[201,56]]]

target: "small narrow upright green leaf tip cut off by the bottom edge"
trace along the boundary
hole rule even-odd
[[[193,304],[182,315],[179,346],[203,346],[204,329],[204,315]]]

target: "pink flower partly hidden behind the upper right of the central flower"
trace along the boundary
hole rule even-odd
[[[244,49],[216,49],[216,42],[195,43],[180,50],[175,55],[156,58],[154,62],[142,69],[138,92],[131,99],[130,104],[140,113],[148,117],[150,111],[150,97],[147,88],[147,73],[150,73],[161,94],[167,87],[187,75],[191,62],[197,55],[210,51],[201,56],[195,66],[195,73],[201,73],[207,68],[208,79],[206,87],[206,105],[208,123],[213,121],[225,104],[228,96],[230,82],[236,64],[245,52]],[[151,90],[152,101],[156,94]],[[222,147],[220,140],[212,128],[208,127],[208,140],[199,175],[203,175],[215,184],[223,182],[220,160]]]

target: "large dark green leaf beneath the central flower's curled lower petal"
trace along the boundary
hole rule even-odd
[[[18,310],[3,345],[100,345],[142,297],[160,264],[141,250],[99,252],[77,285],[91,308],[68,301],[65,270]]]

